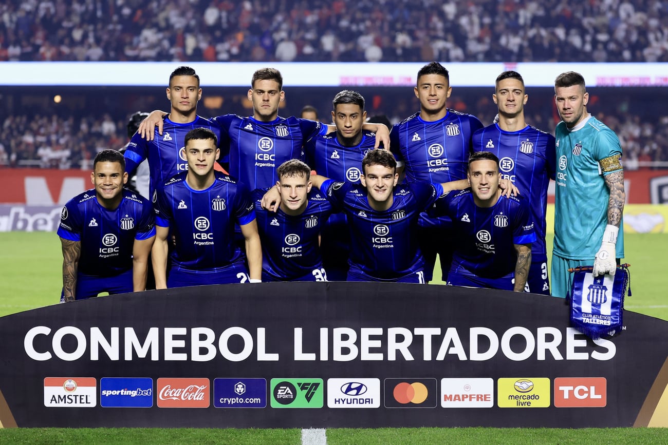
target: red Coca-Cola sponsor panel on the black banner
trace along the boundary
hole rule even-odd
[[[159,378],[157,384],[160,408],[208,408],[208,378]]]

